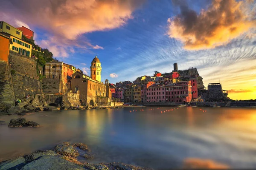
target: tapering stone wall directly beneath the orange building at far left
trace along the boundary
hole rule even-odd
[[[14,105],[14,90],[8,63],[0,60],[0,103]]]

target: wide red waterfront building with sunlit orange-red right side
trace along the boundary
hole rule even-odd
[[[165,86],[166,102],[184,103],[192,100],[191,81],[180,81]]]

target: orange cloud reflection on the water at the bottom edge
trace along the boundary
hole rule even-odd
[[[184,169],[227,169],[225,164],[212,161],[210,159],[188,158],[183,162]]]

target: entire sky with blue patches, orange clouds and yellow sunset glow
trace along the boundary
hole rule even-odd
[[[102,81],[197,68],[231,99],[256,99],[256,0],[0,0],[0,20]]]

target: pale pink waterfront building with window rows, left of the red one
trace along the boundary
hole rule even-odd
[[[147,102],[166,102],[165,85],[151,85],[147,88]]]

